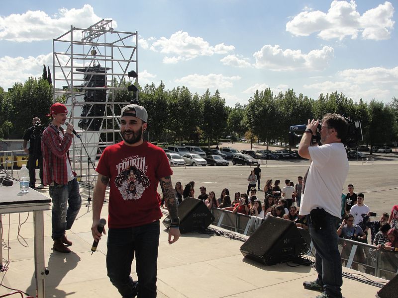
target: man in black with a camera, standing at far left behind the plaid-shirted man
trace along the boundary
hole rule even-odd
[[[29,153],[28,168],[29,168],[29,187],[36,187],[36,161],[39,164],[39,176],[41,184],[37,188],[43,188],[43,156],[41,155],[41,134],[44,131],[44,125],[40,125],[40,118],[33,118],[33,126],[29,127],[22,139],[23,150]],[[29,141],[29,149],[26,145]]]

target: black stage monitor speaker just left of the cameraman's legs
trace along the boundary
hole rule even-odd
[[[305,244],[295,223],[269,217],[240,247],[240,252],[269,266],[298,260]]]

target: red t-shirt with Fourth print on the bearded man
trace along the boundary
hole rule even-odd
[[[109,177],[110,228],[149,224],[159,220],[159,179],[173,171],[163,149],[146,141],[137,147],[124,141],[107,147],[96,171]]]

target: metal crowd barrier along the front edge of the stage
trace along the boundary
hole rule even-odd
[[[250,236],[263,223],[264,219],[228,210],[211,208],[214,216],[213,225]],[[336,228],[337,229],[337,228]],[[315,255],[308,230],[298,228],[301,236],[307,240],[309,247],[302,253]],[[369,235],[370,236],[370,235]],[[338,239],[338,247],[343,266],[391,280],[398,274],[398,253],[387,250],[377,250],[376,246],[344,238]],[[309,250],[309,251],[308,251]]]

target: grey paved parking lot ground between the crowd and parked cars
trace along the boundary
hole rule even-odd
[[[229,146],[238,150],[250,149],[248,143],[224,143],[219,147]],[[255,146],[254,150],[265,149],[264,146]],[[366,153],[366,152],[365,152]],[[369,153],[366,153],[369,154]],[[397,157],[395,157],[397,156]],[[347,193],[347,185],[354,184],[354,192],[362,192],[365,195],[364,203],[378,216],[383,212],[390,213],[391,208],[398,204],[395,197],[398,193],[398,155],[394,153],[373,155],[374,162],[362,162],[362,159],[350,160],[350,170],[344,183],[343,193]],[[284,184],[285,179],[291,179],[297,183],[297,177],[304,176],[309,162],[304,159],[264,160],[267,164],[261,165],[261,188],[267,179],[279,179]],[[219,196],[223,188],[228,188],[230,194],[236,191],[245,192],[247,189],[247,177],[253,166],[232,165],[229,166],[187,166],[173,167],[173,184],[181,181],[183,185],[189,181],[195,181],[195,195],[199,195],[199,187],[206,186],[207,193],[214,191]],[[158,190],[161,193],[159,187]],[[261,200],[264,195],[257,193]]]

